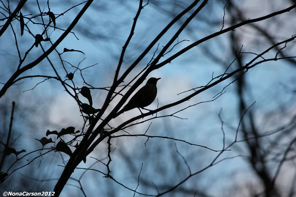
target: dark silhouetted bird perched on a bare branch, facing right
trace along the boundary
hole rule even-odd
[[[146,85],[141,87],[141,89],[139,89],[139,91],[135,95],[133,95],[133,97],[131,97],[131,100],[128,101],[128,104],[126,104],[126,106],[124,106],[122,110],[120,110],[118,113],[116,113],[114,118],[128,110],[132,110],[134,108],[138,108],[140,110],[140,108],[144,109],[144,107],[150,105],[156,98],[156,83],[159,79],[161,78],[151,77],[150,79],[148,79]],[[141,114],[143,114],[141,110],[140,112]]]

